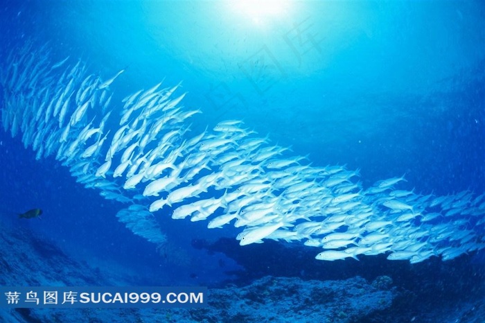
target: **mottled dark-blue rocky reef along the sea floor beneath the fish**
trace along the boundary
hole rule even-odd
[[[0,231],[0,270],[3,286],[146,283],[126,274],[128,270],[93,268],[75,261],[28,229],[8,226]],[[399,281],[399,277],[396,279]],[[0,322],[481,322],[479,317],[485,317],[483,294],[482,299],[476,296],[483,286],[472,293],[473,297],[460,302],[435,294],[443,301],[437,307],[423,303],[423,295],[416,290],[396,286],[396,279],[386,275],[374,279],[355,275],[338,280],[266,275],[209,288],[206,308],[0,309]],[[439,288],[446,293],[449,286],[445,281],[442,286],[434,286],[433,292]],[[421,307],[417,307],[420,303]]]

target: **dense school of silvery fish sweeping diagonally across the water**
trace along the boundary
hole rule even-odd
[[[89,73],[47,46],[26,41],[0,69],[3,129],[36,158],[53,156],[77,181],[127,206],[118,219],[163,244],[157,216],[240,228],[240,245],[298,241],[316,259],[387,254],[418,263],[485,248],[485,193],[421,195],[397,189],[404,176],[369,188],[359,171],[310,166],[305,157],[257,137],[242,121],[193,134],[200,110],[180,104],[179,85],[161,83],[114,102],[112,78]],[[120,101],[120,100],[118,100]]]

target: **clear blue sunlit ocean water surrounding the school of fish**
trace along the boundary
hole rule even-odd
[[[103,78],[125,69],[110,86],[116,102],[161,80],[182,81],[182,105],[202,110],[191,119],[194,134],[243,120],[312,166],[359,169],[364,187],[405,175],[398,188],[423,195],[485,192],[481,1],[275,2],[258,11],[238,1],[4,1],[0,61],[33,40],[53,62],[80,59]],[[77,261],[145,285],[215,286],[244,270],[230,255],[244,246],[225,254],[194,247],[233,239],[238,228],[207,229],[163,209],[157,222],[169,243],[157,250],[118,222],[123,204],[76,183],[53,157],[35,160],[3,131],[0,165],[3,225],[28,229]],[[42,220],[12,216],[33,208]],[[481,264],[483,278],[483,255],[465,258]],[[345,263],[355,275],[382,274],[371,263]],[[261,275],[285,272],[270,267]],[[301,277],[308,270],[303,264]]]

